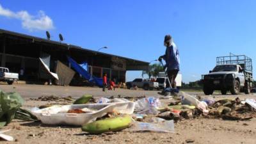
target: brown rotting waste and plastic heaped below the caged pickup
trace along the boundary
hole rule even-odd
[[[200,101],[201,100],[201,101]],[[169,106],[158,109],[157,115],[166,120],[178,120],[204,117],[222,118],[223,120],[250,120],[256,118],[256,100],[221,99],[215,101],[212,97],[196,99],[187,93],[182,93],[181,100],[171,102]]]

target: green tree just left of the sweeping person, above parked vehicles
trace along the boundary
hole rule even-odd
[[[148,70],[143,70],[141,76],[145,74],[148,75],[150,79],[152,76],[157,77],[159,72],[163,72],[164,68],[160,63],[154,63],[153,65],[148,65]]]

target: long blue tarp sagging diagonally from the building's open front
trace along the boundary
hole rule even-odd
[[[71,67],[74,68],[76,70],[76,72],[78,72],[78,74],[81,74],[81,76],[83,76],[85,79],[87,79],[91,83],[97,84],[97,86],[103,86],[102,78],[94,77],[87,71],[88,70],[87,63],[84,62],[79,65],[78,63],[76,63],[76,61],[74,61],[70,57],[68,57],[68,61],[70,62]]]

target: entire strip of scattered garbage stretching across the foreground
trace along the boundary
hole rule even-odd
[[[159,97],[93,98],[83,95],[72,97],[40,97],[38,100],[70,100],[72,104],[49,105],[40,108],[20,109],[24,100],[19,93],[0,92],[0,124],[9,124],[13,118],[26,121],[40,120],[49,125],[79,125],[90,134],[111,131],[174,132],[174,122],[189,118],[222,118],[223,120],[250,120],[256,117],[256,100],[201,99],[181,92],[172,102],[163,104]],[[131,101],[132,100],[132,101]],[[0,128],[1,128],[0,127]],[[129,129],[127,129],[129,127]],[[4,131],[5,132],[5,131]],[[1,133],[1,132],[0,132]],[[0,135],[1,137],[2,135]],[[8,136],[7,136],[8,137]],[[13,140],[6,138],[4,140]]]

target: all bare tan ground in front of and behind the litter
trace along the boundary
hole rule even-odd
[[[19,92],[26,104],[24,107],[40,106],[42,104],[55,104],[54,101],[37,101],[30,98],[57,95],[80,97],[84,93],[95,97],[115,96],[140,97],[157,96],[157,91],[143,90],[116,90],[102,92],[100,88],[84,88],[72,86],[41,86],[14,84],[12,86],[0,84],[4,92]],[[191,95],[201,95],[202,92],[188,92]],[[256,95],[212,95],[216,99],[252,98]],[[65,102],[62,102],[65,103]],[[68,103],[68,102],[67,102]],[[13,136],[16,141],[1,143],[256,143],[256,118],[248,121],[230,121],[222,119],[195,118],[175,123],[175,132],[131,132],[125,129],[120,132],[92,135],[81,131],[81,127],[68,127],[63,125],[44,125],[41,122],[22,122],[13,120],[5,129],[12,129],[6,134]]]

